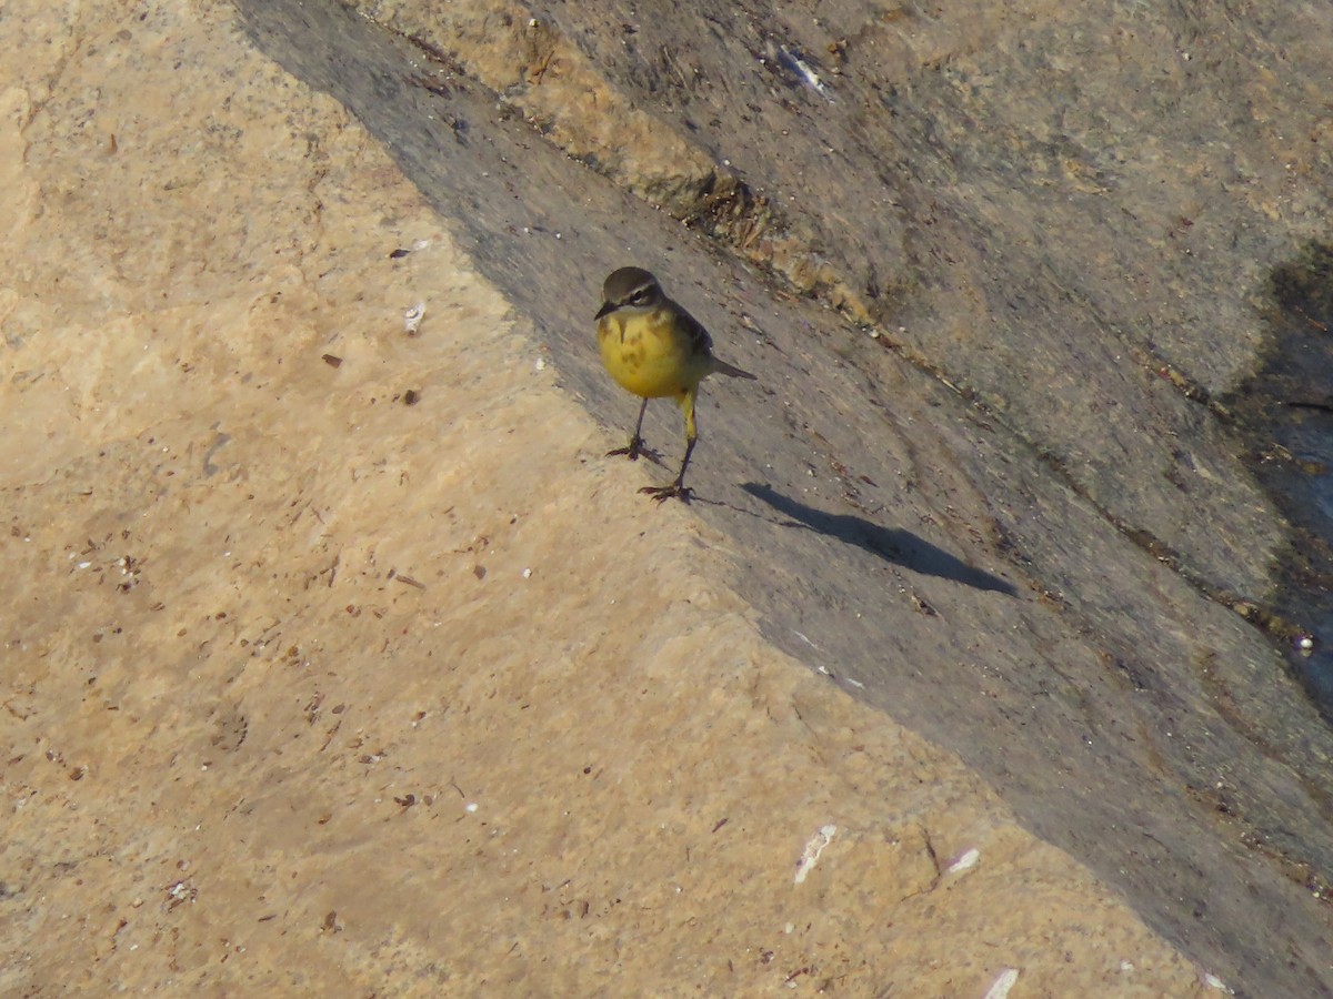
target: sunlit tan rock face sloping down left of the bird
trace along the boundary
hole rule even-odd
[[[521,316],[227,8],[24,13],[5,991],[1197,988],[760,638],[721,538],[637,502]]]

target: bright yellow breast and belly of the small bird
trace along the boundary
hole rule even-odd
[[[697,388],[709,370],[708,354],[694,353],[669,309],[603,316],[597,344],[611,377],[643,398],[680,396]]]

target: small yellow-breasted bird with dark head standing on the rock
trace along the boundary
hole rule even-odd
[[[648,400],[674,397],[685,414],[685,460],[680,464],[680,474],[669,486],[644,486],[639,492],[657,501],[676,496],[689,502],[685,468],[698,438],[694,428],[698,382],[714,372],[733,378],[754,380],[754,376],[713,357],[713,340],[704,325],[668,298],[657,278],[647,270],[616,270],[603,285],[601,297],[597,310],[601,362],[623,389],[644,400],[629,446],[608,454],[628,454],[633,461],[645,453],[640,432]]]

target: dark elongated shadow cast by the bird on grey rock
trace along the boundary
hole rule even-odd
[[[881,527],[878,523],[852,514],[816,510],[813,506],[785,497],[761,482],[744,482],[741,489],[796,521],[790,526],[804,526],[848,545],[864,547],[888,562],[916,573],[938,575],[977,590],[1002,593],[1008,597],[1017,594],[1013,583],[968,565],[929,541],[922,541],[909,530]]]

